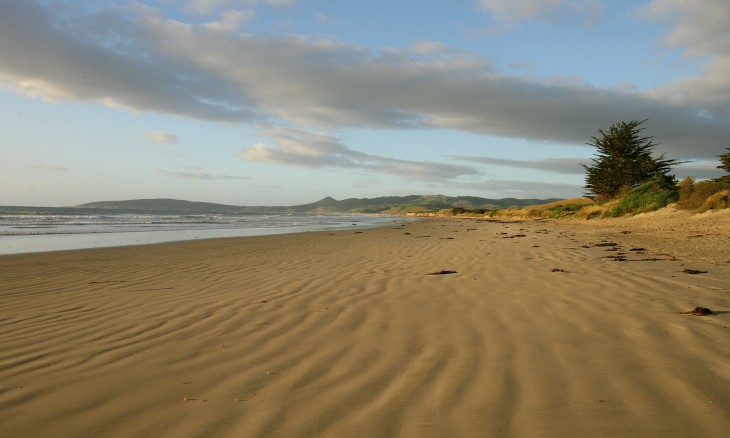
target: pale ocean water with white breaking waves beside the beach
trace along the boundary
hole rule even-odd
[[[0,254],[142,245],[387,225],[404,217],[353,214],[219,214],[0,206]]]

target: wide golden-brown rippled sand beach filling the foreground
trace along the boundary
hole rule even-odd
[[[600,240],[435,220],[0,257],[0,435],[727,436],[730,265]]]

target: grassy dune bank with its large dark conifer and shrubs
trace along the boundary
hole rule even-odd
[[[585,197],[526,207],[491,210],[490,217],[592,219],[646,213],[674,204],[702,213],[730,207],[730,148],[718,155],[726,175],[705,181],[687,177],[677,182],[670,172],[680,164],[664,154],[654,157],[656,143],[641,135],[646,120],[614,124],[587,143],[597,149],[586,170]],[[454,215],[477,211],[452,210]]]

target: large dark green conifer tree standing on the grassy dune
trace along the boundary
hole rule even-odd
[[[636,187],[639,184],[657,179],[663,184],[676,184],[674,175],[670,175],[672,166],[679,164],[677,160],[652,156],[652,149],[657,145],[653,137],[642,137],[641,127],[646,120],[620,122],[611,126],[608,132],[599,129],[600,137],[592,137],[587,143],[594,146],[597,158],[592,158],[592,165],[583,164],[586,170],[586,196],[594,199],[610,199],[622,190]]]

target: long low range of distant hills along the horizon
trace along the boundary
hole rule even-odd
[[[210,202],[191,202],[177,199],[135,199],[128,201],[90,202],[78,205],[82,208],[109,210],[135,210],[156,212],[194,213],[389,213],[405,214],[433,212],[454,207],[491,210],[506,207],[545,204],[558,201],[549,199],[487,199],[476,196],[410,195],[381,196],[378,198],[349,198],[338,201],[331,197],[311,204],[294,206],[236,206]]]

